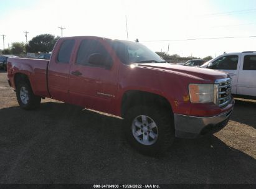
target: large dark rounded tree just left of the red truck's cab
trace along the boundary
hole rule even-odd
[[[51,34],[41,34],[34,37],[32,40],[29,41],[27,46],[27,52],[42,52],[42,53],[49,53],[52,52],[55,43],[60,37],[55,37]]]

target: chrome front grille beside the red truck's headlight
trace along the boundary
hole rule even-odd
[[[229,104],[231,99],[231,79],[216,80],[214,85],[214,103],[220,107]]]

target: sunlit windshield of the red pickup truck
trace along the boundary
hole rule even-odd
[[[131,63],[166,62],[158,54],[138,42],[127,43],[125,40],[111,40],[110,44],[121,62],[126,65],[130,65]]]

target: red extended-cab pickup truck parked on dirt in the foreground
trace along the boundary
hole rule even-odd
[[[125,40],[61,38],[50,60],[9,58],[7,76],[21,108],[53,98],[119,116],[128,141],[150,154],[164,152],[175,136],[219,131],[234,107],[227,74],[171,65]]]

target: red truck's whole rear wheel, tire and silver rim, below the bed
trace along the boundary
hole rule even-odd
[[[40,96],[36,96],[33,93],[31,86],[26,81],[21,81],[17,84],[16,96],[22,109],[36,109],[40,106]]]

